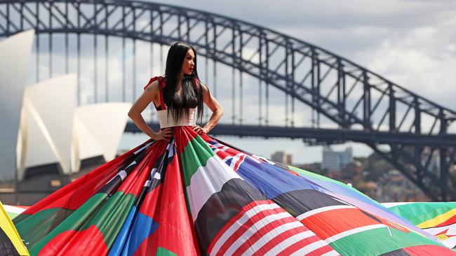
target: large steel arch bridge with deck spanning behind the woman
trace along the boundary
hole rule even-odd
[[[0,38],[27,29],[36,32],[36,81],[58,75],[57,66],[77,73],[79,104],[88,103],[84,88],[92,91],[90,103],[133,102],[148,80],[136,78],[143,66],[135,59],[145,55],[137,45],[149,45],[147,73],[158,76],[167,47],[187,41],[197,50],[201,80],[226,99],[212,134],[364,143],[431,200],[456,200],[456,176],[449,171],[456,159],[456,134],[449,132],[456,111],[317,45],[258,24],[145,1],[1,0]],[[114,40],[122,55],[116,88],[108,54]],[[58,63],[56,54],[64,56]],[[87,62],[91,80],[81,73]],[[139,129],[129,123],[126,131]]]

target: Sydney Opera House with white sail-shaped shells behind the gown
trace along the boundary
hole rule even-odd
[[[77,106],[74,73],[27,84],[34,35],[0,41],[0,173],[15,176],[4,204],[34,204],[114,159],[128,121],[129,103]]]

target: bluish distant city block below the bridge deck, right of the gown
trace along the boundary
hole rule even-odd
[[[344,151],[334,151],[330,147],[325,147],[323,148],[321,169],[341,171],[351,161],[353,161],[353,150],[351,147]]]

